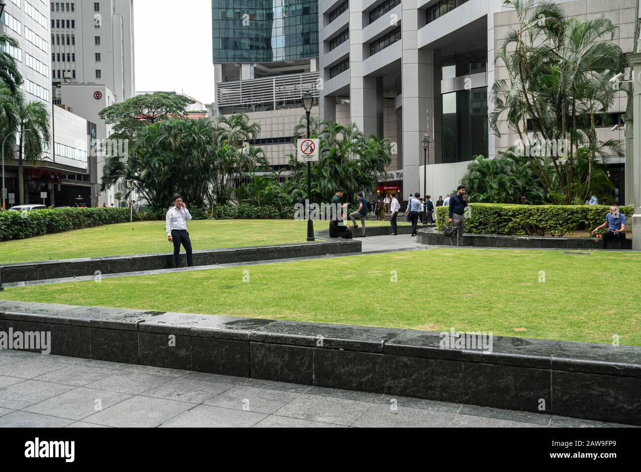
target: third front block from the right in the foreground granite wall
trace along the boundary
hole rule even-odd
[[[386,354],[385,393],[461,403],[463,363]]]

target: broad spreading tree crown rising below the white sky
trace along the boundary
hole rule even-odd
[[[165,121],[169,117],[183,117],[185,108],[192,103],[192,99],[176,92],[154,92],[113,103],[103,108],[98,116],[106,124],[113,125],[113,139],[131,140],[149,124]]]

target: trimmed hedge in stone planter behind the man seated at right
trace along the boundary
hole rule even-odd
[[[575,231],[591,232],[605,222],[608,205],[508,205],[470,203],[470,217],[465,219],[466,233],[499,235],[563,236]],[[631,217],[633,208],[623,206],[620,212]],[[437,208],[437,230],[448,222],[449,207]],[[629,223],[628,223],[629,224]]]

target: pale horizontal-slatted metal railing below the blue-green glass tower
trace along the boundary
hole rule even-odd
[[[319,72],[222,82],[217,85],[216,101],[218,108],[260,106],[275,110],[278,105],[302,101],[307,92],[317,98],[320,88]]]

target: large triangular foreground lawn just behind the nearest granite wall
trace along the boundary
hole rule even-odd
[[[444,248],[7,288],[0,298],[567,341],[619,335],[641,346],[640,267],[633,252]]]

